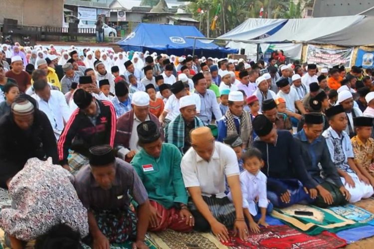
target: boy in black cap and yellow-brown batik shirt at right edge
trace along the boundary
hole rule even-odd
[[[374,139],[372,138],[373,118],[353,118],[356,129],[356,136],[351,138],[353,151],[355,153],[355,164],[361,165],[363,171],[368,172],[367,176],[373,186],[374,183]],[[360,168],[359,168],[360,169]],[[364,174],[364,172],[363,172]],[[364,174],[365,175],[365,174]]]

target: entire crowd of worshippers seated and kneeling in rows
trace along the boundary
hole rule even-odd
[[[268,226],[273,207],[374,194],[371,69],[1,48],[11,248],[145,249],[166,229],[227,242]]]

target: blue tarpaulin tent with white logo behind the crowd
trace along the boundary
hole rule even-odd
[[[198,56],[226,57],[229,53],[237,53],[237,49],[226,49],[217,46],[213,42],[197,40],[187,36],[204,37],[195,26],[169,25],[140,23],[126,38],[117,42],[125,51],[148,50],[150,53],[156,52],[174,54],[177,56],[194,54]],[[195,44],[194,44],[195,43]]]

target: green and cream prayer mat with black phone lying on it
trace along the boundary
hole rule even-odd
[[[295,215],[295,211],[312,212],[313,216]],[[308,235],[318,235],[324,230],[337,233],[342,230],[364,226],[364,224],[337,215],[329,209],[299,204],[283,209],[274,209],[271,216]]]

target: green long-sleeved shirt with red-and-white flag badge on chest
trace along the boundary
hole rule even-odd
[[[146,187],[149,199],[157,201],[167,209],[175,206],[176,202],[187,204],[181,160],[182,154],[174,144],[163,143],[159,158],[141,149],[131,161]]]

